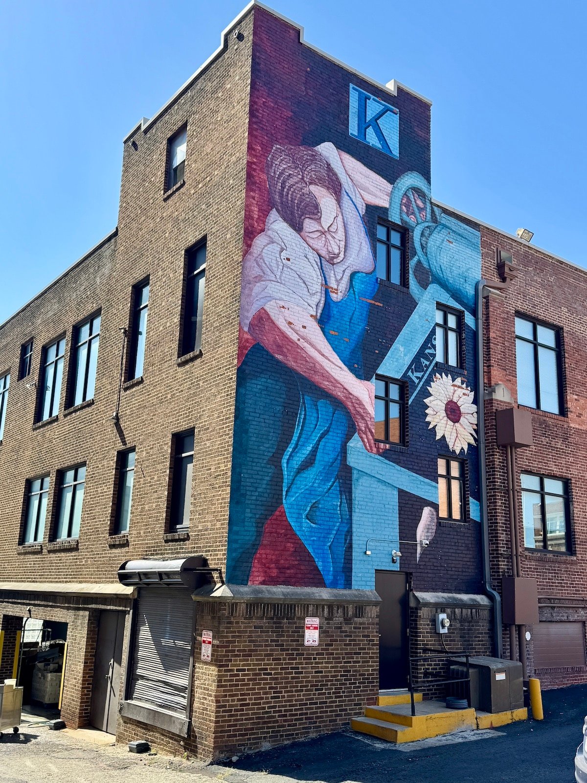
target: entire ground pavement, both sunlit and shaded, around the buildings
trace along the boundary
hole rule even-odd
[[[2,783],[573,783],[587,686],[543,694],[545,720],[396,746],[339,732],[205,766],[137,756],[100,731],[29,723],[0,742]]]

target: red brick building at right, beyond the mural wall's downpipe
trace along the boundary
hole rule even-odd
[[[513,573],[506,448],[498,445],[495,419],[513,408],[531,421],[531,438],[515,449],[512,482],[518,576],[538,586],[540,622],[522,640],[528,674],[543,687],[584,683],[587,275],[490,227],[481,228],[481,248],[483,276],[500,286],[484,305],[492,579],[501,589],[502,577]],[[503,648],[509,657],[506,627]]]

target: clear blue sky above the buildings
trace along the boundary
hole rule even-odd
[[[436,199],[587,265],[587,4],[268,4],[320,49],[433,101]],[[124,135],[243,5],[0,0],[0,323],[116,226]]]

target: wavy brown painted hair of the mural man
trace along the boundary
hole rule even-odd
[[[311,185],[329,190],[340,202],[342,186],[325,157],[308,146],[275,144],[265,164],[269,196],[279,217],[301,232],[305,218],[320,218]]]

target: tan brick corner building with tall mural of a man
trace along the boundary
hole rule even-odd
[[[426,99],[247,6],[0,327],[0,677],[42,620],[70,726],[211,759],[347,725],[438,612],[499,648],[488,237],[432,200]]]

